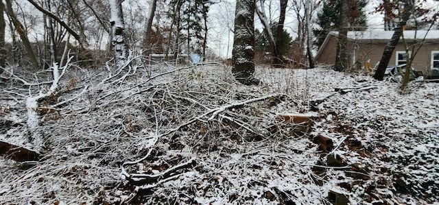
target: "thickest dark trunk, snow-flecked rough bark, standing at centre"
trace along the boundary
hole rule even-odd
[[[237,0],[233,74],[242,84],[252,84],[254,73],[254,0]]]

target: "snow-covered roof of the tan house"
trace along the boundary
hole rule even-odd
[[[353,31],[348,32],[348,40],[355,41],[357,43],[388,43],[390,38],[392,38],[394,31]],[[332,36],[337,37],[338,32],[329,32],[327,38],[324,39],[322,46],[318,50],[316,59],[320,56],[322,49],[326,47],[327,43]],[[404,38],[408,41],[422,40],[425,36],[426,42],[437,42],[439,43],[439,30],[407,30],[404,31]],[[415,38],[416,37],[416,38]]]

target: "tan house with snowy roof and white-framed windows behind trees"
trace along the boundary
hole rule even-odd
[[[364,64],[368,60],[370,60],[370,64],[374,67],[381,60],[385,45],[392,38],[393,33],[393,31],[348,32],[349,67],[353,66],[355,62]],[[317,53],[316,62],[320,64],[335,64],[337,36],[338,32],[329,32]],[[425,39],[423,40],[424,37]],[[423,46],[412,62],[412,67],[416,71],[423,72],[425,76],[438,75],[439,30],[430,30],[428,32],[425,30],[407,30],[404,31],[404,38],[410,50],[413,45],[420,45],[423,42]],[[401,38],[393,51],[389,64],[405,64],[406,59],[405,46]]]

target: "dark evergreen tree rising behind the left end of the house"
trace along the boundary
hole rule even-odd
[[[323,1],[323,8],[318,12],[317,23],[320,25],[320,29],[314,29],[314,35],[317,40],[315,45],[320,48],[324,38],[327,37],[329,32],[338,30],[340,27],[340,3],[341,0],[329,0]],[[367,29],[367,19],[364,8],[366,7],[367,0],[350,0],[349,1],[349,29],[350,31],[363,31]]]

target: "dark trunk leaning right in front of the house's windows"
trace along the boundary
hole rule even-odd
[[[377,71],[375,71],[375,75],[373,75],[373,77],[376,80],[384,79],[385,69],[389,64],[390,58],[392,58],[393,51],[399,42],[399,38],[401,38],[401,35],[403,34],[403,27],[405,26],[405,24],[407,24],[407,21],[410,19],[410,16],[412,15],[412,11],[413,11],[413,1],[406,0],[404,3],[404,11],[401,15],[401,22],[399,22],[398,27],[395,28],[392,38],[390,38],[387,45],[385,45],[383,56],[381,56],[381,60],[379,61]]]

